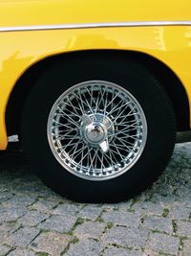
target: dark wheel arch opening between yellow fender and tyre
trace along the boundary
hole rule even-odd
[[[146,68],[155,74],[171,99],[177,119],[177,130],[182,131],[189,129],[189,102],[187,94],[180,79],[167,65],[162,63],[157,58],[153,58],[147,54],[135,51],[91,50],[66,53],[40,60],[32,65],[32,67],[30,67],[19,78],[19,80],[16,81],[11,91],[11,96],[6,108],[6,127],[8,135],[19,133],[22,110],[25,105],[25,101],[32,90],[33,84],[38,79],[40,74],[42,74],[47,67],[53,65],[55,61],[69,61],[71,59],[82,58],[84,56],[97,56],[101,58],[111,58],[112,56],[120,58],[133,58],[142,63]],[[183,111],[181,109],[183,109]]]

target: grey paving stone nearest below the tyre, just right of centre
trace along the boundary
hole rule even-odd
[[[140,221],[138,214],[114,210],[104,213],[101,218],[107,222],[113,222],[127,227],[134,226],[135,228],[138,228]]]

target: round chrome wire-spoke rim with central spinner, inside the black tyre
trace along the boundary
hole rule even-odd
[[[84,81],[53,104],[47,134],[54,157],[88,180],[115,178],[138,161],[147,123],[136,98],[109,81]]]

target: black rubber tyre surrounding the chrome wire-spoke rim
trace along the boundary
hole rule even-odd
[[[138,161],[115,178],[92,181],[73,175],[55,159],[47,138],[54,102],[74,84],[110,81],[130,92],[141,106],[148,128]],[[175,145],[172,105],[155,76],[132,59],[102,56],[59,60],[36,81],[24,107],[22,140],[32,170],[56,193],[83,201],[129,198],[152,184],[166,167]]]

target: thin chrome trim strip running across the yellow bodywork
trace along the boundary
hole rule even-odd
[[[47,31],[47,30],[74,30],[95,28],[122,28],[122,27],[152,27],[152,26],[191,26],[191,21],[129,21],[109,23],[84,23],[61,25],[35,25],[19,27],[0,27],[0,32]]]

